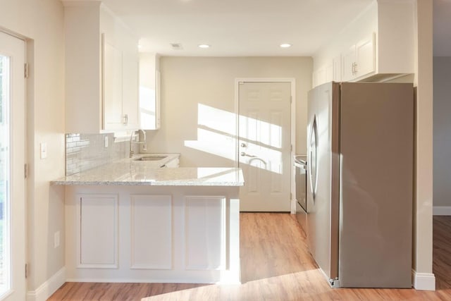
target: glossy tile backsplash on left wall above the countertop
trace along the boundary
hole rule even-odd
[[[129,148],[127,141],[114,142],[113,133],[66,134],[66,176],[123,159],[128,156]]]

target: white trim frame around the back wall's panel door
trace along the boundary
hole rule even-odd
[[[296,80],[295,78],[235,78],[235,167],[238,167],[239,152],[239,120],[240,112],[240,82],[290,82],[291,87],[291,104],[290,104],[290,126],[291,126],[291,150],[290,150],[290,204],[291,214],[296,213],[295,199],[295,149],[296,149]],[[245,179],[246,181],[246,179]]]

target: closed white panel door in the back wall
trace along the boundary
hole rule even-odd
[[[290,211],[291,83],[240,82],[241,211]]]

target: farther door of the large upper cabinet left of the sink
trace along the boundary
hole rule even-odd
[[[123,115],[126,116],[126,128],[140,128],[138,108],[138,54],[123,52]]]

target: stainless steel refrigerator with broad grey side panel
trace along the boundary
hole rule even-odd
[[[307,240],[330,285],[410,288],[412,84],[314,88],[307,137]]]

